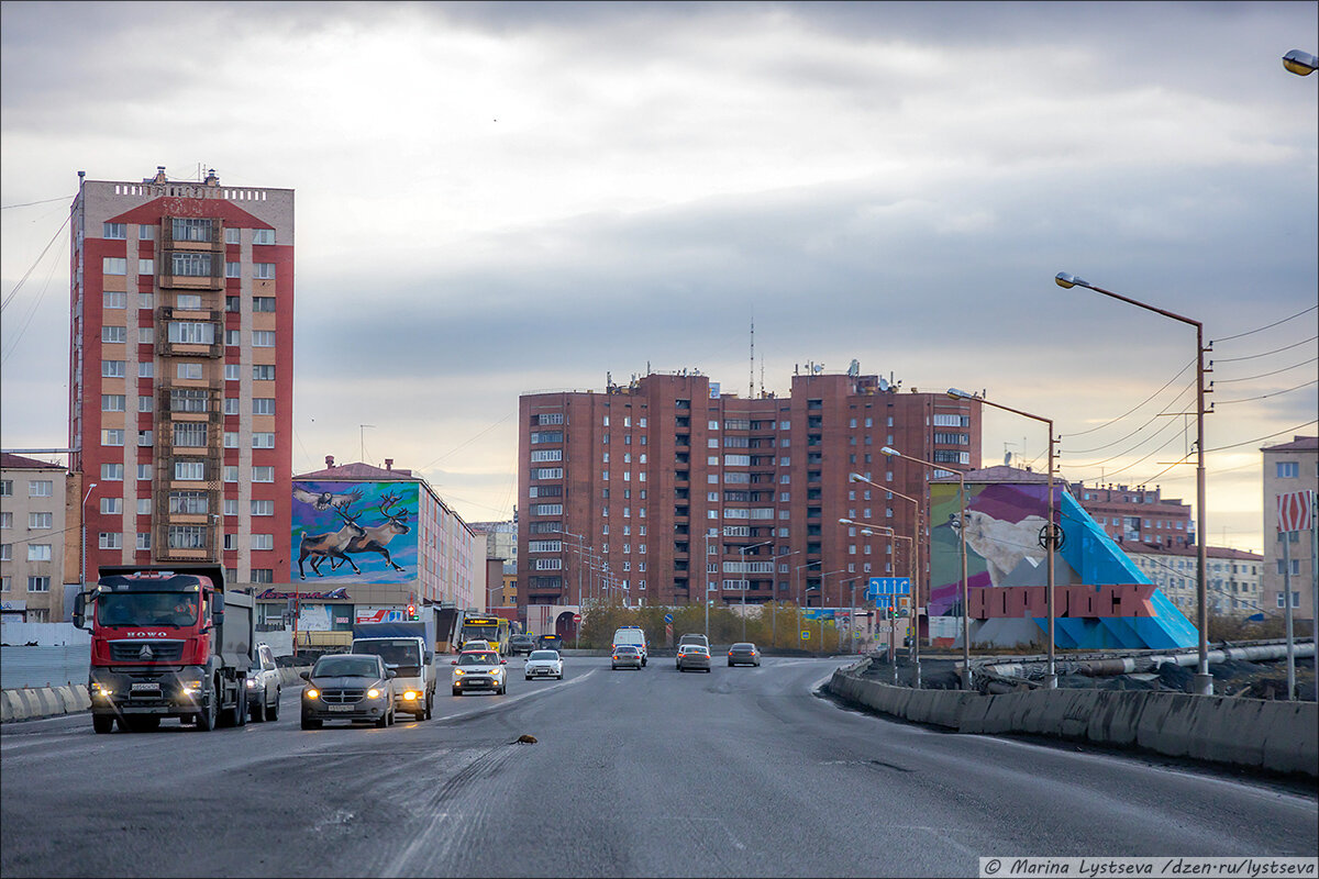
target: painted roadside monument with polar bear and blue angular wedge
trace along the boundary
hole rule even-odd
[[[1009,467],[966,473],[967,589],[971,642],[1000,647],[1043,643],[1049,618],[1041,531],[1049,521],[1046,476]],[[1057,643],[1064,648],[1194,647],[1198,633],[1122,552],[1062,480],[1054,521]],[[962,501],[956,480],[930,482],[930,617],[962,615]],[[979,590],[993,589],[993,593]],[[958,626],[960,644],[960,626]]]

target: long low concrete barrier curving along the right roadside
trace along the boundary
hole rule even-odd
[[[1187,693],[913,691],[834,672],[847,701],[969,734],[1029,733],[1319,778],[1319,705]]]

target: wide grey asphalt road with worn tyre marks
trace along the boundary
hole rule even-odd
[[[843,660],[570,658],[429,722],[0,731],[0,874],[955,876],[980,855],[1314,855],[1314,796],[938,733],[813,695]],[[534,745],[517,745],[522,735]]]

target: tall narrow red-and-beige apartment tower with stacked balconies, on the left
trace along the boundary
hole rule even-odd
[[[293,190],[88,181],[73,206],[71,469],[102,564],[289,579]]]

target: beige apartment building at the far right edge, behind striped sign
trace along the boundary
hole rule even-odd
[[[1278,531],[1278,496],[1294,492],[1319,493],[1319,436],[1294,436],[1260,449],[1264,456],[1264,604],[1273,613],[1285,610],[1283,539],[1291,576],[1291,613],[1295,619],[1314,619],[1314,543],[1308,531]],[[1311,623],[1312,625],[1312,623]]]

